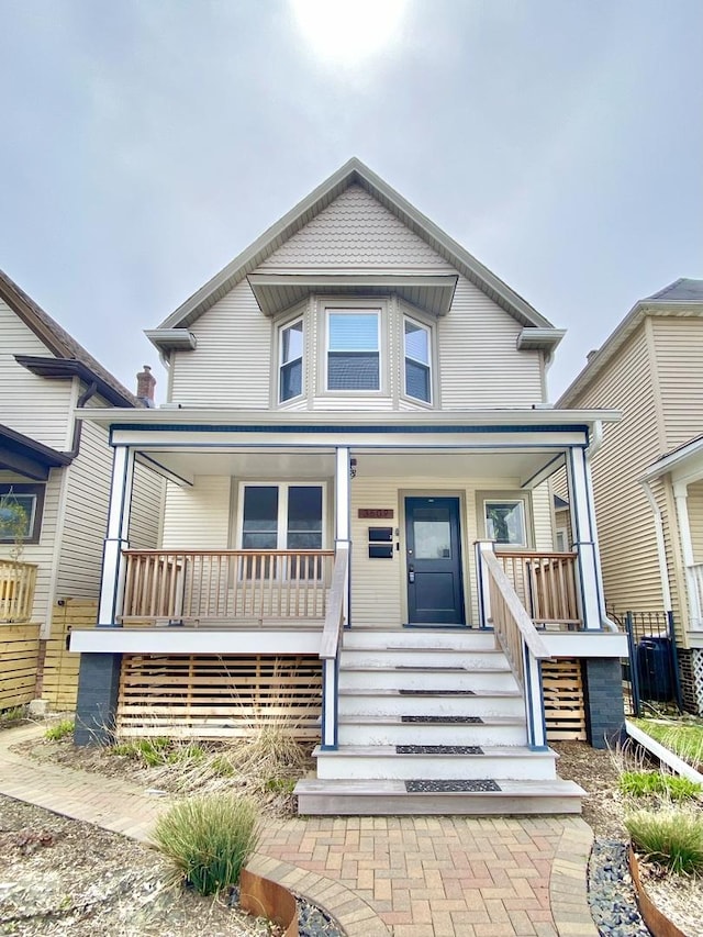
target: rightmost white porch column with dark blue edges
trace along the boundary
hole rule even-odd
[[[583,626],[587,629],[600,629],[605,610],[602,601],[595,521],[592,509],[593,489],[584,448],[570,447],[567,450],[567,472],[569,477],[571,528],[574,539],[573,548],[578,554],[579,607]]]

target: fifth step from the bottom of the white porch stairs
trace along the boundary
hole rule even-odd
[[[473,692],[490,690],[517,690],[515,678],[505,668],[465,667],[386,667],[382,665],[347,666],[339,668],[339,688],[350,689],[398,689]]]

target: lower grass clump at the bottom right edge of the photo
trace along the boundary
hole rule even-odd
[[[625,817],[635,847],[672,872],[703,871],[703,815],[682,810],[636,811]]]

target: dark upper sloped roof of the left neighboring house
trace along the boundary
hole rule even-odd
[[[55,322],[52,316],[44,312],[24,290],[0,270],[0,299],[4,300],[10,309],[32,330],[36,337],[46,345],[55,359],[64,359],[77,362],[72,367],[74,373],[82,380],[96,381],[98,390],[105,399],[115,406],[142,406],[142,403],[131,393],[110,371],[102,367],[83,347],[72,338],[66,330]],[[10,349],[12,350],[12,349]],[[21,357],[21,356],[20,356]],[[48,365],[52,359],[27,358],[27,361],[44,361]],[[25,367],[24,361],[20,361]],[[52,377],[68,377],[70,366],[63,368],[64,373],[51,375]],[[38,373],[38,370],[35,370]],[[49,376],[48,373],[46,375]]]

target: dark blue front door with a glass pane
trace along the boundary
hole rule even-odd
[[[408,621],[462,625],[458,498],[406,498]]]

